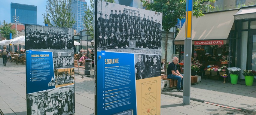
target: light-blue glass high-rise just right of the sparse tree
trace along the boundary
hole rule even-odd
[[[71,13],[75,16],[75,24],[72,25],[77,32],[80,32],[84,29],[83,26],[83,17],[85,15],[84,11],[86,11],[87,2],[85,0],[72,0],[71,1]]]

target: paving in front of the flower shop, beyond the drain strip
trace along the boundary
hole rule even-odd
[[[175,90],[165,91],[164,94],[182,97]],[[218,80],[202,79],[201,83],[191,85],[190,97],[228,107],[252,111],[256,114],[256,83],[246,86],[245,81],[238,84],[223,83]]]

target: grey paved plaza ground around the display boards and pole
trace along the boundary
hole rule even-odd
[[[2,59],[0,59],[2,64]],[[7,66],[0,65],[0,109],[5,115],[26,115],[26,68],[25,65],[16,65],[16,63],[7,63]],[[84,69],[80,69],[80,73]],[[77,73],[75,68],[75,73]],[[93,115],[94,108],[94,79],[92,77],[81,78],[81,75],[75,75],[75,115]],[[225,87],[224,87],[225,86]],[[240,86],[240,87],[238,87]],[[226,88],[226,90],[221,89]],[[212,88],[212,89],[211,89]],[[238,92],[237,88],[242,92]],[[236,89],[236,90],[231,90]],[[205,99],[219,103],[220,101],[230,101],[227,104],[238,103],[246,105],[246,109],[254,107],[256,103],[255,86],[250,88],[245,85],[233,86],[226,83],[221,86],[219,81],[203,80],[202,83],[191,86],[191,97]],[[224,91],[223,91],[224,90]],[[253,91],[254,90],[254,91]],[[206,91],[206,92],[205,92]],[[235,92],[236,91],[236,92]],[[245,92],[246,95],[245,95]],[[173,90],[166,91],[168,95],[161,94],[161,115],[210,115],[222,114],[227,112],[244,114],[241,111],[230,110],[223,107],[205,104],[198,101],[190,101],[190,105],[183,105],[182,98],[176,97],[182,95]],[[214,94],[213,94],[214,93]],[[235,94],[233,94],[235,93]],[[223,94],[223,95],[221,95]],[[175,96],[171,96],[175,95]],[[211,96],[212,95],[212,96]],[[255,96],[253,96],[255,95]],[[202,97],[200,97],[202,96]],[[214,97],[215,96],[215,97]],[[233,96],[233,97],[232,97]],[[250,97],[251,96],[251,97]],[[242,98],[244,97],[244,98]],[[246,100],[245,97],[250,97]],[[216,101],[213,100],[216,98]],[[234,98],[237,98],[234,100]],[[218,100],[221,99],[221,100]],[[223,100],[224,99],[224,100]],[[230,100],[231,99],[231,100]],[[238,100],[241,99],[241,100]],[[233,100],[233,101],[232,101]],[[250,107],[249,107],[250,106]],[[244,107],[245,108],[245,107]],[[247,115],[250,115],[247,113]]]

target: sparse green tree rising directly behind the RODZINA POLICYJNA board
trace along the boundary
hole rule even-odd
[[[44,23],[49,26],[53,26],[51,20],[56,27],[72,28],[72,24],[75,23],[75,17],[71,13],[71,0],[47,0],[43,16]]]

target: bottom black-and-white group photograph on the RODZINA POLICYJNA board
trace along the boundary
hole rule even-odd
[[[69,115],[74,112],[74,85],[27,94],[27,115]]]

